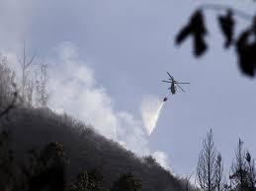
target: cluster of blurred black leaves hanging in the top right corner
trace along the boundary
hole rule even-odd
[[[248,76],[255,76],[256,68],[256,19],[254,19],[252,26],[241,32],[236,39],[234,39],[235,20],[232,9],[226,10],[225,16],[218,16],[217,22],[220,31],[224,36],[224,47],[228,48],[231,45],[235,46],[238,65],[241,72]],[[182,43],[189,35],[192,35],[194,40],[194,55],[199,57],[207,51],[207,42],[204,36],[207,34],[205,27],[203,11],[196,10],[191,16],[189,23],[178,32],[176,36],[176,43]]]

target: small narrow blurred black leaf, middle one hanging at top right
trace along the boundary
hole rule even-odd
[[[219,16],[217,19],[220,30],[225,38],[224,47],[228,48],[233,42],[233,31],[235,25],[232,10],[227,10],[225,16]]]

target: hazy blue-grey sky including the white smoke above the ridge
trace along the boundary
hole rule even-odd
[[[212,128],[228,172],[238,138],[256,155],[256,82],[240,73],[232,48],[223,50],[219,13],[206,12],[210,50],[201,59],[190,40],[175,45],[177,32],[206,2],[248,14],[256,9],[249,0],[1,0],[0,50],[15,63],[26,40],[48,65],[52,109],[138,156],[153,155],[176,174],[195,173]],[[239,20],[237,32],[248,25]],[[166,95],[166,71],[191,84],[163,105],[149,136],[141,107]]]

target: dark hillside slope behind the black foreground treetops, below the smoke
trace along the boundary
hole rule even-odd
[[[142,190],[185,190],[185,182],[153,158],[139,159],[65,114],[58,115],[46,108],[18,108],[13,109],[8,118],[1,120],[1,131],[8,132],[16,163],[22,163],[29,150],[42,151],[49,143],[63,145],[68,159],[66,185],[74,181],[79,172],[97,169],[102,173],[104,188],[112,188],[122,174],[131,173],[141,181]]]

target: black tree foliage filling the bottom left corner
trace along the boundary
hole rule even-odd
[[[13,158],[9,137],[7,132],[1,133],[0,190],[62,191],[65,181],[61,145],[50,143],[40,153],[31,150],[21,163]]]

